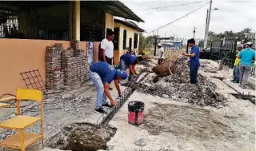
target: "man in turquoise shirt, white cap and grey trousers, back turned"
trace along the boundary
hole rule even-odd
[[[243,89],[246,89],[247,80],[250,74],[251,67],[253,62],[256,60],[255,57],[255,50],[251,49],[252,43],[246,43],[246,49],[242,50],[238,54],[238,58],[241,59],[240,61],[240,77],[239,77],[239,86]]]

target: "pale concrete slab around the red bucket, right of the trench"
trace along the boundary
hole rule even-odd
[[[155,117],[156,125],[160,133],[154,135],[145,129],[147,123],[143,122],[142,125],[128,124],[128,109],[127,104],[129,101],[143,101],[145,103],[145,120],[148,121],[149,117]],[[164,106],[173,106],[171,110],[154,110],[158,103]],[[179,107],[181,108],[179,108]],[[182,107],[187,106],[185,110],[180,110]],[[172,111],[174,109],[174,112]],[[190,114],[190,109],[194,110]],[[170,118],[161,117],[158,112],[171,112],[166,114]],[[156,114],[150,115],[150,112]],[[199,113],[195,117],[194,113]],[[202,114],[201,114],[202,113]],[[204,120],[203,118],[206,119]],[[250,102],[242,102],[230,95],[228,105],[222,109],[215,109],[211,107],[200,108],[178,101],[166,100],[161,97],[154,97],[145,93],[134,92],[122,109],[110,121],[118,130],[114,137],[107,143],[111,151],[134,151],[134,150],[250,150],[255,149],[254,146],[254,105]],[[159,120],[162,119],[163,121]],[[162,122],[169,124],[166,129],[162,129]],[[144,121],[145,121],[144,120]],[[212,121],[212,122],[211,122]],[[160,123],[158,123],[160,122]],[[209,125],[208,125],[208,124]],[[218,124],[217,124],[218,123]],[[203,126],[207,125],[205,128]],[[217,127],[214,127],[216,125]],[[177,126],[177,127],[176,127]],[[185,126],[185,127],[184,127]],[[210,126],[212,129],[207,128]],[[224,127],[223,127],[224,126]],[[168,128],[168,129],[167,129]],[[152,127],[154,129],[154,126]],[[184,132],[182,132],[184,129]],[[178,130],[175,132],[175,130]],[[201,131],[202,130],[202,131]],[[213,131],[212,131],[213,130]],[[178,134],[177,134],[178,133]],[[200,137],[202,133],[202,137]],[[234,139],[235,138],[235,139]],[[134,141],[143,139],[146,146],[138,146]],[[218,144],[218,145],[216,145]]]

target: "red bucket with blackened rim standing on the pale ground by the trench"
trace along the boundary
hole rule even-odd
[[[128,104],[128,111],[128,122],[130,124],[142,124],[144,111],[144,103],[142,101],[130,101]]]

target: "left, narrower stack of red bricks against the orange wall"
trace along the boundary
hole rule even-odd
[[[46,89],[60,89],[64,85],[61,71],[62,44],[46,47]]]

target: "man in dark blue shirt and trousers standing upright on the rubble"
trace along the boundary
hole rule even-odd
[[[199,48],[195,45],[194,38],[191,38],[188,41],[189,46],[191,47],[190,54],[182,53],[182,55],[190,57],[190,83],[198,83],[198,70],[200,66],[199,62]]]

